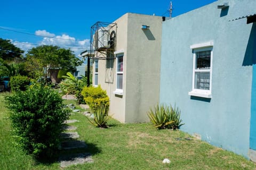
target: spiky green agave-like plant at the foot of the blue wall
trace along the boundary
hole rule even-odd
[[[150,122],[158,129],[179,129],[182,120],[180,119],[180,110],[177,107],[164,106],[157,104],[153,109],[150,108],[148,112]]]

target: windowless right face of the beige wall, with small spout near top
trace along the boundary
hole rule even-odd
[[[162,17],[129,13],[127,30],[125,122],[145,122],[159,101]]]

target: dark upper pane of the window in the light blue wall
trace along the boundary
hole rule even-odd
[[[209,69],[211,66],[211,50],[196,53],[196,69]]]

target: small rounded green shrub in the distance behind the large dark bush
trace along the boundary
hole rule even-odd
[[[29,83],[30,83],[29,78],[23,75],[13,76],[10,79],[12,91],[18,91],[18,90],[25,91]]]

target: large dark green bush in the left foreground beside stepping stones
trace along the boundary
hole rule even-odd
[[[62,123],[69,117],[58,92],[33,86],[6,96],[5,101],[20,146],[37,158],[52,157],[60,145]]]

